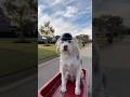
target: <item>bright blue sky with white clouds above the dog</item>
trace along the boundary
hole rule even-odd
[[[55,34],[92,34],[92,0],[38,0],[38,27],[51,22]]]

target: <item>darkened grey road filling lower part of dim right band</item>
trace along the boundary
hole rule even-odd
[[[130,36],[101,50],[101,65],[106,74],[108,97],[130,97]]]

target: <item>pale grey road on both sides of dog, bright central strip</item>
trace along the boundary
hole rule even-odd
[[[87,44],[81,50],[83,68],[88,69],[90,81],[92,82],[92,44]],[[51,78],[58,72],[60,59],[55,58],[50,61],[40,64],[38,67],[38,88],[43,86]]]

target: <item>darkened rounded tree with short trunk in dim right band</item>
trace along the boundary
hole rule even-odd
[[[105,34],[107,41],[113,43],[113,38],[121,34],[122,18],[115,15],[101,15],[93,18],[93,26],[98,30],[96,34]]]

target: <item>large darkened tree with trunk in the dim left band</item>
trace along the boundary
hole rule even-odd
[[[36,0],[6,0],[4,2],[4,10],[6,17],[20,28],[18,34],[21,40],[24,41],[25,26],[29,28],[30,26],[28,24],[35,25],[37,22]],[[35,30],[35,27],[32,28]]]

